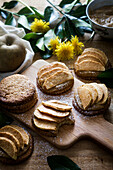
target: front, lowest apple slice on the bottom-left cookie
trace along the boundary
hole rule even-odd
[[[17,159],[17,149],[14,143],[5,137],[0,137],[0,147],[14,160]]]

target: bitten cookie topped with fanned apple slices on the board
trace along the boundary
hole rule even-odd
[[[61,125],[74,124],[71,109],[58,100],[42,101],[34,112],[34,127],[43,135],[56,136]]]

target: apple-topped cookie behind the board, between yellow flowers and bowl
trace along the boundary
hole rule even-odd
[[[77,58],[74,69],[77,76],[84,79],[93,79],[101,71],[105,71],[108,58],[105,53],[96,48],[86,48]]]

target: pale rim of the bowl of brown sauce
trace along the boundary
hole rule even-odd
[[[95,25],[97,25],[97,26],[99,26],[99,27],[102,27],[102,28],[104,28],[104,29],[106,28],[106,29],[109,29],[109,30],[113,30],[113,27],[103,26],[103,25],[98,24],[97,22],[93,21],[93,20],[90,18],[89,8],[90,8],[90,5],[91,5],[92,3],[94,3],[95,1],[96,1],[96,0],[91,1],[91,2],[87,5],[87,7],[86,7],[86,15],[87,15],[88,19],[89,19],[93,24],[95,24]]]

